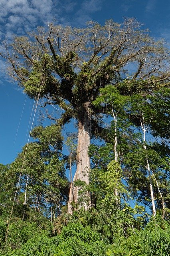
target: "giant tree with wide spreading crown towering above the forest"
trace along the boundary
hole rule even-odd
[[[58,124],[77,119],[77,170],[73,180],[86,184],[91,132],[98,134],[101,130],[95,119],[101,110],[92,104],[99,89],[111,83],[114,86],[130,75],[134,81],[149,81],[142,88],[146,92],[168,77],[168,54],[162,42],[155,42],[147,31],[140,30],[134,19],[125,19],[123,24],[107,20],[103,26],[89,22],[86,28],[49,24],[48,31],[40,27],[30,37],[16,37],[1,55],[9,60],[10,75],[30,98],[40,96],[46,99],[45,104],[56,104],[64,110]],[[138,87],[130,90],[135,92]],[[71,201],[77,202],[78,191],[78,187],[73,188]]]

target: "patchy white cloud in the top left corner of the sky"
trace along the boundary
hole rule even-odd
[[[0,21],[4,25],[4,36],[11,38],[13,33],[24,34],[26,29],[32,30],[39,23],[50,20],[53,1],[1,0]]]

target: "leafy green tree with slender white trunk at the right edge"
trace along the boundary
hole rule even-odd
[[[168,91],[168,88],[163,87],[161,90],[153,91],[150,95],[145,97],[137,94],[131,97],[131,107],[128,114],[133,118],[133,123],[136,124],[136,128],[138,128],[141,135],[138,137],[139,143],[136,145],[134,152],[127,152],[125,156],[125,166],[127,166],[127,170],[131,169],[133,170],[132,173],[134,172],[133,174],[131,173],[132,175],[130,175],[129,181],[133,180],[135,183],[136,180],[138,183],[138,185],[137,183],[134,185],[134,190],[137,190],[138,186],[140,187],[140,200],[142,200],[143,203],[151,201],[153,216],[156,215],[157,207],[157,209],[162,210],[163,218],[165,212],[168,216],[169,208],[168,164],[170,151],[166,141],[170,121]],[[159,105],[156,104],[156,99]],[[150,138],[151,134],[154,137]],[[148,140],[146,136],[148,136]],[[153,138],[155,141],[150,142]],[[144,182],[144,180],[146,182]],[[146,187],[146,184],[148,184],[148,187]],[[146,197],[148,191],[150,191],[150,199]]]

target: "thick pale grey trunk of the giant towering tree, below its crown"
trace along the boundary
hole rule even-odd
[[[89,184],[89,170],[90,158],[88,155],[88,148],[91,137],[91,118],[89,111],[89,102],[84,104],[83,110],[79,113],[79,127],[78,127],[78,143],[77,143],[77,169],[70,185],[68,213],[72,214],[71,202],[79,202],[79,191],[81,187],[74,186],[76,180],[81,180],[85,184]],[[91,206],[90,193],[84,192],[81,195],[80,204],[87,210]]]

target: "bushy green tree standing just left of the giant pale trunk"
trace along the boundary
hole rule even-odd
[[[3,190],[7,202],[11,188],[13,191],[11,203],[6,207],[11,211],[14,201],[13,216],[26,220],[32,212],[33,215],[37,212],[50,216],[53,222],[61,213],[61,206],[67,202],[68,196],[65,161],[61,158],[61,127],[56,124],[45,128],[37,126],[31,136],[36,141],[26,144],[5,172],[8,187],[3,183]]]

